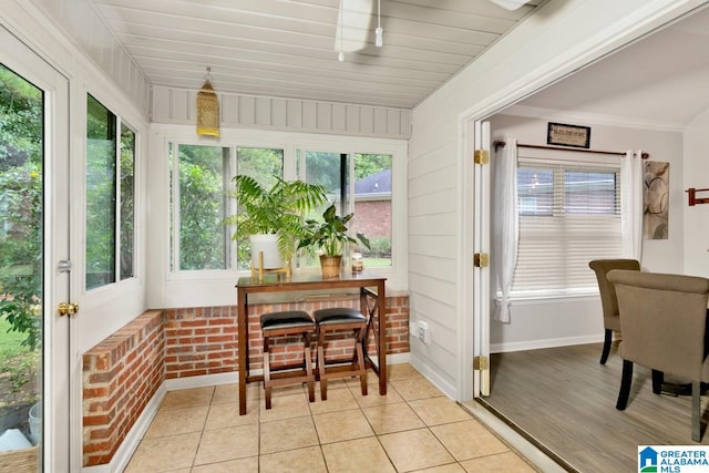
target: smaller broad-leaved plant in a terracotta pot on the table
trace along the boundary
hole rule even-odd
[[[369,239],[364,235],[358,233],[357,239],[354,239],[347,232],[347,224],[353,216],[353,213],[346,216],[337,215],[335,204],[331,204],[322,213],[322,222],[306,220],[305,235],[300,238],[298,248],[305,248],[311,254],[319,254],[320,268],[326,278],[340,274],[342,251],[347,246],[357,244],[359,240],[368,249],[371,249]]]

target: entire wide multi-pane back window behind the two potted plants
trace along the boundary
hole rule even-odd
[[[289,146],[296,150],[295,145]],[[277,178],[327,186],[338,212],[354,212],[352,233],[372,244],[366,267],[392,266],[392,154],[295,151],[284,147],[204,145],[168,141],[171,271],[247,270],[249,241],[233,241],[225,217],[237,212],[233,178],[245,174],[270,188]],[[328,203],[329,205],[329,203]],[[321,215],[323,206],[309,217]],[[349,256],[349,255],[347,255]],[[315,261],[301,266],[315,266]]]

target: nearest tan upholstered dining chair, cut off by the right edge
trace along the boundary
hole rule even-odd
[[[608,273],[620,310],[623,377],[616,409],[627,407],[633,363],[653,370],[659,394],[664,373],[691,380],[691,439],[701,439],[701,380],[709,380],[709,279],[615,269]]]

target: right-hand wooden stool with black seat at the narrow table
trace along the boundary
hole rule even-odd
[[[364,352],[362,349],[364,333],[367,333],[367,317],[357,309],[349,307],[336,307],[320,309],[312,312],[315,316],[316,331],[318,333],[318,376],[320,378],[320,398],[328,399],[327,382],[329,379],[359,377],[362,395],[367,395],[367,367],[364,366]],[[350,331],[353,333],[354,348],[352,359],[337,360],[332,364],[339,364],[326,369],[325,349],[328,345],[327,335],[331,332]]]

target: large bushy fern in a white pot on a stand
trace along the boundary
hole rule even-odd
[[[243,174],[234,177],[234,184],[232,196],[236,197],[239,208],[236,215],[225,219],[225,224],[236,225],[232,239],[250,239],[251,268],[260,267],[260,251],[264,255],[261,269],[290,265],[304,234],[305,215],[326,202],[326,187],[277,177],[276,184],[266,188]]]

